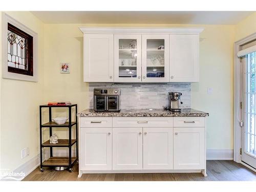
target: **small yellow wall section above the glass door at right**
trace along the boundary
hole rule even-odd
[[[236,25],[235,41],[238,41],[253,33],[256,33],[256,12],[249,15]]]

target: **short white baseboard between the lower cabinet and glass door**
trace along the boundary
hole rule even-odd
[[[233,160],[233,150],[206,150],[206,160]]]

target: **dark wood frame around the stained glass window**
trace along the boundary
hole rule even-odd
[[[25,38],[27,40],[27,46],[28,46],[28,48],[27,48],[28,70],[18,69],[18,68],[8,66],[8,72],[33,76],[33,37],[31,35],[29,35],[28,33],[18,29],[15,26],[13,26],[10,23],[8,23],[8,30],[16,33],[17,35],[19,35],[23,38]]]

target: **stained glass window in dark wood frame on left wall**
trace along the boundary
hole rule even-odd
[[[8,72],[33,76],[33,37],[9,23]]]

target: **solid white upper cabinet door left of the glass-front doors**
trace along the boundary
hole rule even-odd
[[[114,82],[114,35],[84,34],[84,82]]]

